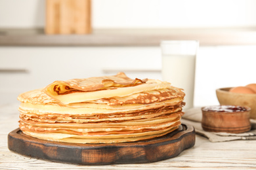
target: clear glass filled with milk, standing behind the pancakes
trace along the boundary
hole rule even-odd
[[[182,88],[184,93],[184,110],[194,106],[194,80],[196,54],[199,41],[161,41],[162,69],[164,81],[172,86]]]

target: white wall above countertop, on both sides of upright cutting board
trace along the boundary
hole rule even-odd
[[[92,0],[93,28],[252,27],[255,0]],[[43,27],[44,0],[0,0],[0,27]]]

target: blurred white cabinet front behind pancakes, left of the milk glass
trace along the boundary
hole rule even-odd
[[[158,47],[1,47],[0,103],[54,80],[114,75],[161,78]]]

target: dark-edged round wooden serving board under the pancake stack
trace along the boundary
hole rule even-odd
[[[179,129],[158,137],[132,143],[75,144],[36,139],[20,129],[8,135],[9,150],[43,160],[78,163],[83,165],[107,165],[117,163],[149,163],[178,156],[194,146],[194,127],[182,124]]]

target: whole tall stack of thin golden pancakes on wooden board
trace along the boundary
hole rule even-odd
[[[184,92],[124,73],[66,81],[21,93],[20,129],[66,143],[123,143],[160,137],[181,124]]]

